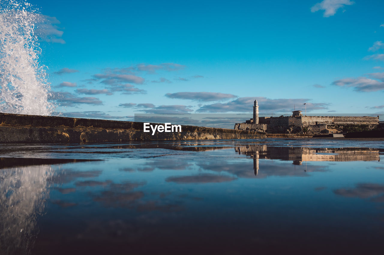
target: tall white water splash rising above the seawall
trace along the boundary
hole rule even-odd
[[[51,115],[47,67],[35,33],[41,15],[29,3],[0,0],[0,112]]]

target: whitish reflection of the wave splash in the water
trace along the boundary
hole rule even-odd
[[[0,170],[0,253],[29,254],[37,234],[36,218],[48,196],[50,165]]]

